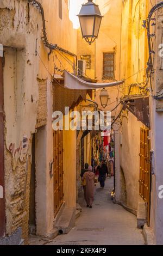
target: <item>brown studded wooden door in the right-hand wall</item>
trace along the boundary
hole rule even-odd
[[[148,133],[148,129],[141,129],[139,193],[141,198],[146,202],[146,220],[149,226],[151,200],[151,139],[148,137]]]

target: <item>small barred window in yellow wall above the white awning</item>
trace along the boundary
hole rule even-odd
[[[115,76],[115,53],[103,53],[103,80],[113,80]]]

